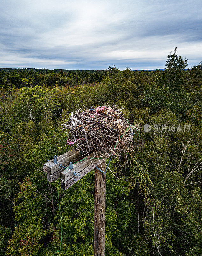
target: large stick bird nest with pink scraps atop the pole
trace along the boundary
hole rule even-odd
[[[62,124],[63,131],[68,133],[66,146],[76,144],[84,152],[107,156],[118,156],[120,151],[133,148],[133,132],[140,130],[142,125],[130,124],[130,120],[124,118],[122,109],[99,106],[78,109],[74,115],[72,112],[69,121]]]

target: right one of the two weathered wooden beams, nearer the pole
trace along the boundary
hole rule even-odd
[[[93,153],[90,154],[90,157],[93,158]],[[73,184],[75,184],[78,180],[83,178],[87,173],[92,171],[97,165],[103,163],[107,157],[89,159],[89,156],[84,157],[83,161],[74,164],[74,168],[72,170],[65,170],[61,172],[61,188],[66,190],[70,188]],[[80,176],[77,177],[73,174],[73,172],[79,173]],[[75,180],[76,178],[76,180]]]

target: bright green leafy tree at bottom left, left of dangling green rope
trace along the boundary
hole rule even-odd
[[[36,186],[29,178],[20,186],[21,191],[15,199],[16,222],[7,255],[38,255],[44,246],[41,240],[50,233],[44,226],[46,214],[42,197],[37,194]]]

